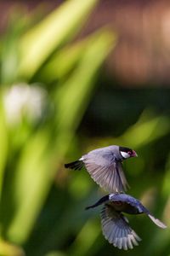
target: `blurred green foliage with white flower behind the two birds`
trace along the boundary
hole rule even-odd
[[[94,148],[135,149],[123,163],[128,193],[170,224],[170,91],[107,73],[119,42],[109,26],[76,39],[96,3],[65,1],[45,16],[18,6],[1,35],[0,255],[170,255],[169,228],[144,216],[129,217],[139,247],[105,241],[99,208],[84,211],[105,191],[64,168]]]

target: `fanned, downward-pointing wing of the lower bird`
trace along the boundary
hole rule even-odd
[[[122,213],[116,212],[111,206],[103,207],[101,224],[105,239],[119,249],[132,249],[141,240],[129,226]]]

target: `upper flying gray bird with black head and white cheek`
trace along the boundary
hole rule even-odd
[[[81,170],[86,167],[90,176],[109,193],[127,190],[127,179],[122,171],[122,160],[137,156],[131,148],[109,146],[98,148],[82,155],[79,160],[65,164],[65,168]]]

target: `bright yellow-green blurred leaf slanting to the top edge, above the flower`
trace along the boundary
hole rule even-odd
[[[19,75],[30,79],[54,49],[59,48],[77,33],[97,2],[98,0],[66,1],[27,32],[20,42]]]

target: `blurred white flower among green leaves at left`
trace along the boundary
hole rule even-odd
[[[38,84],[14,84],[5,91],[3,100],[8,123],[19,123],[23,116],[37,121],[47,105],[47,91]]]

